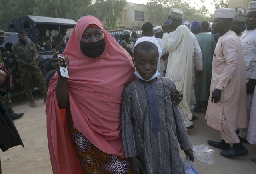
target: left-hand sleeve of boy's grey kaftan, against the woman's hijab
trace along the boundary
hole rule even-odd
[[[137,156],[136,143],[133,133],[132,124],[132,103],[130,93],[128,93],[127,88],[124,88],[122,95],[122,137],[124,142],[124,153],[126,158]]]

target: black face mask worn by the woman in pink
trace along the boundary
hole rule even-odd
[[[80,42],[80,49],[82,53],[91,58],[99,57],[100,55],[102,55],[105,50],[105,46],[105,38],[95,43]]]

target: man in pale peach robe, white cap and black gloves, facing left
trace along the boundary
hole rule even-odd
[[[220,142],[208,140],[208,144],[222,149],[221,156],[234,158],[248,155],[240,142],[236,129],[248,126],[246,117],[246,81],[244,54],[241,41],[230,24],[236,14],[232,8],[219,8],[214,12],[212,28],[220,33],[212,61],[212,80],[207,125],[220,130]],[[232,148],[230,144],[233,144]]]

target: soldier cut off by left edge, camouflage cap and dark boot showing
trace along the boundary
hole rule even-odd
[[[3,30],[0,30],[0,45],[4,43],[4,37],[8,37],[5,35],[5,32]],[[4,66],[4,59],[2,57],[2,55],[4,57],[8,57],[10,54],[9,51],[4,51],[4,53],[1,53],[0,50],[0,63],[2,64],[2,66]],[[8,114],[10,115],[10,117],[12,118],[12,120],[14,119],[18,119],[20,117],[22,117],[22,115],[24,115],[24,113],[14,113],[13,109],[12,109],[12,100],[10,98],[10,94],[7,93],[6,95],[0,96],[0,99],[2,101],[2,103],[4,104],[4,106],[6,107],[6,110],[8,111]]]

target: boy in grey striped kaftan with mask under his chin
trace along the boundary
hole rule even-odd
[[[175,83],[157,76],[158,51],[154,43],[141,42],[136,47],[138,79],[126,85],[122,96],[125,155],[134,173],[138,171],[134,171],[133,164],[141,163],[138,168],[147,174],[184,174],[178,143],[190,160],[194,157],[182,117],[170,97],[176,93]]]

